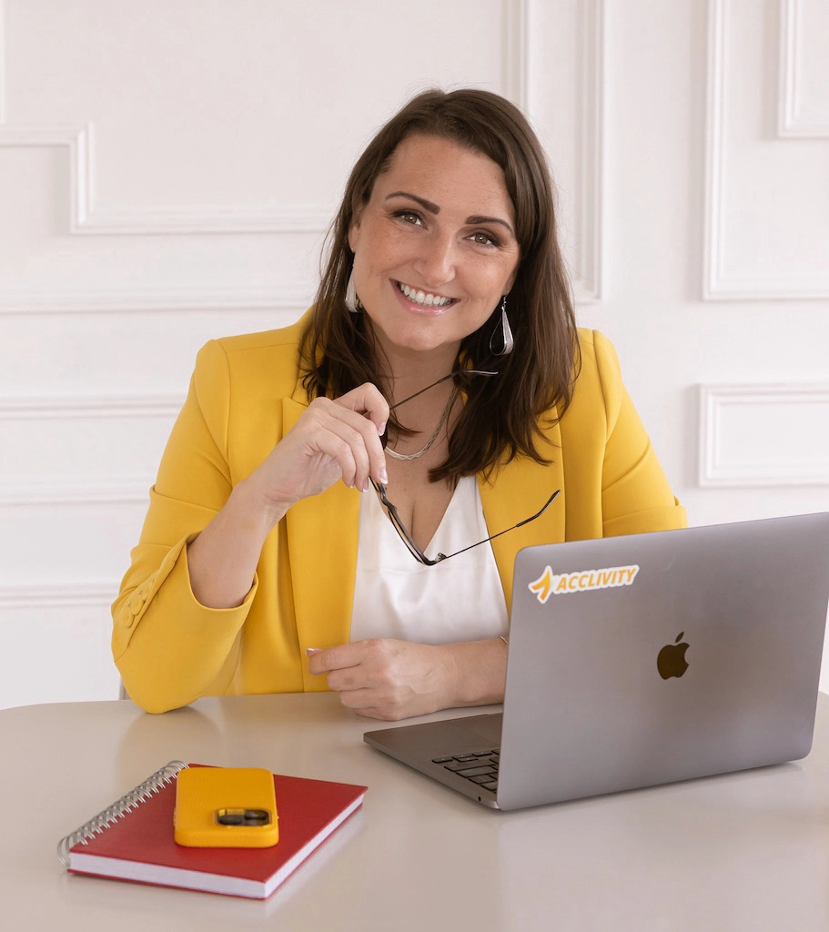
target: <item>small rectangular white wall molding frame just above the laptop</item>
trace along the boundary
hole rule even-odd
[[[701,487],[760,486],[829,486],[829,448],[823,455],[801,456],[792,450],[785,463],[769,459],[764,463],[731,461],[723,450],[723,419],[735,408],[801,408],[806,421],[816,426],[829,418],[829,382],[781,383],[775,385],[700,385],[700,459],[698,479]],[[809,418],[815,408],[825,414]],[[778,415],[779,416],[779,415]],[[771,419],[771,418],[769,418]],[[768,432],[769,444],[773,434]]]

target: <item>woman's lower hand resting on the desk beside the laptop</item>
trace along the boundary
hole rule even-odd
[[[451,646],[378,637],[307,653],[310,672],[327,674],[340,702],[368,719],[396,721],[459,705]]]

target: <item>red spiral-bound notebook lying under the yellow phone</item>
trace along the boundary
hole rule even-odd
[[[270,848],[186,848],[173,840],[171,761],[61,840],[72,873],[264,899],[360,807],[365,787],[274,774],[279,843]]]

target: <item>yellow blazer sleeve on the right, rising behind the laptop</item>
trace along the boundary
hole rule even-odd
[[[674,498],[645,427],[622,383],[616,350],[598,332],[593,332],[592,343],[605,398],[604,536],[685,528],[685,508]]]

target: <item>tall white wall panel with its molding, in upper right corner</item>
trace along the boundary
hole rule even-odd
[[[769,131],[779,43],[768,36],[791,18],[752,0],[711,0],[710,11],[703,295],[829,297],[829,139],[803,144]],[[824,19],[815,15],[816,26]],[[795,54],[787,70],[799,74],[801,61]],[[829,103],[829,84],[819,83],[809,89]]]

